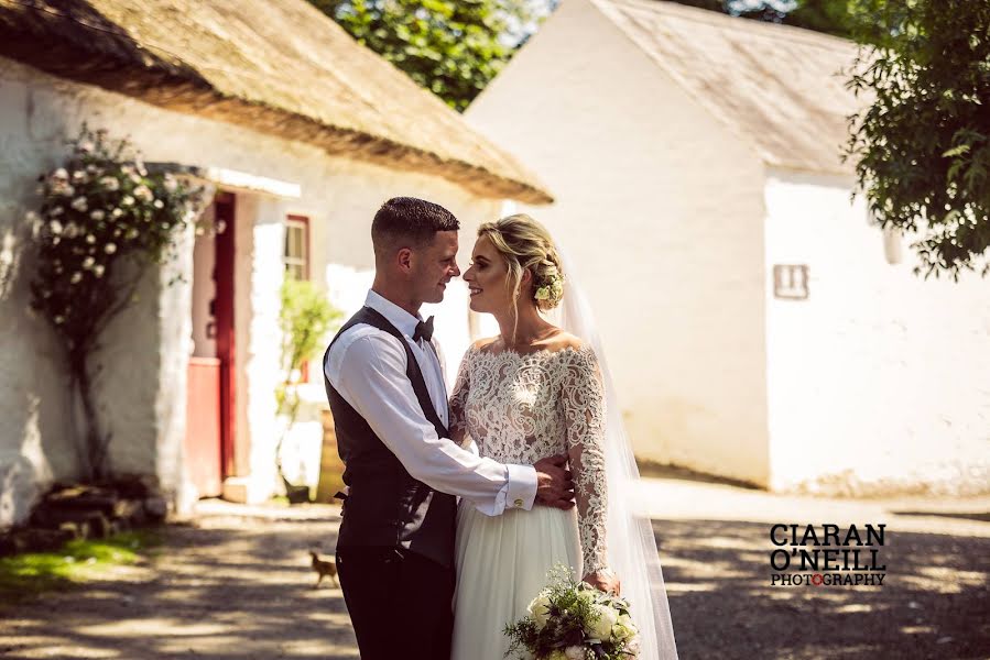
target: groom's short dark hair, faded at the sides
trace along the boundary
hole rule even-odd
[[[376,256],[399,248],[422,248],[438,231],[457,231],[460,222],[438,204],[415,197],[393,197],[378,209],[371,222]]]

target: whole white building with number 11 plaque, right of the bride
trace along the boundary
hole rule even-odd
[[[853,44],[564,0],[466,117],[554,190],[641,459],[774,490],[990,490],[990,280],[913,275],[840,158]]]

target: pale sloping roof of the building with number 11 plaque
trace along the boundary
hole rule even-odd
[[[591,0],[769,165],[848,174],[852,42],[655,0]]]

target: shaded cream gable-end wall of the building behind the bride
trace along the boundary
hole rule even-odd
[[[581,270],[637,454],[766,483],[757,157],[587,0],[467,118],[556,197],[532,213]]]

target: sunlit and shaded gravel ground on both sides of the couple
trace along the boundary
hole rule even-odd
[[[645,480],[681,658],[990,659],[990,498],[836,501]],[[357,658],[340,591],[313,588],[338,509],[200,503],[159,553],[0,606],[3,658]],[[882,586],[771,586],[770,526],[885,522]]]

